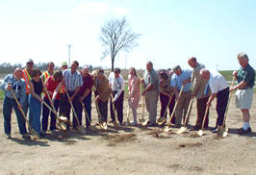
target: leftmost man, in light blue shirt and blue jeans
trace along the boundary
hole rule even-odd
[[[14,109],[18,122],[18,129],[23,138],[29,138],[26,130],[25,119],[20,112],[26,100],[26,85],[22,78],[22,70],[16,68],[13,74],[6,76],[4,82],[1,84],[1,89],[5,91],[5,98],[3,102],[4,128],[7,138],[11,138],[11,114]],[[16,95],[21,106],[18,106],[14,100],[11,89]]]

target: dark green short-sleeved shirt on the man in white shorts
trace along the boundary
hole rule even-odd
[[[255,71],[247,64],[244,68],[241,67],[238,71],[238,83],[245,82],[247,85],[245,87],[254,87],[255,81]]]

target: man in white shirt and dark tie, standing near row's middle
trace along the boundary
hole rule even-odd
[[[115,106],[115,110],[117,112],[117,119],[120,124],[122,124],[123,120],[123,96],[124,96],[124,80],[123,77],[120,75],[120,69],[115,68],[114,72],[111,72],[109,76],[109,84],[112,89],[113,94],[113,105]],[[111,118],[112,121],[115,121],[115,114],[113,110],[113,105],[110,103],[111,109]]]

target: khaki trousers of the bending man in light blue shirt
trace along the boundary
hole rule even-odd
[[[188,112],[188,108],[190,106],[190,102],[192,99],[192,91],[188,91],[188,92],[183,92],[181,93],[179,102],[177,104],[177,109],[175,112],[175,117],[176,117],[176,125],[181,124],[181,120],[183,118],[183,122],[185,120],[185,116]]]

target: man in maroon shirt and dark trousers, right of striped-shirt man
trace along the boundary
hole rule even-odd
[[[79,96],[80,96],[80,102],[84,103],[86,111],[88,113],[88,116],[90,118],[90,121],[88,117],[86,117],[86,125],[87,128],[90,127],[91,122],[91,87],[93,85],[93,79],[89,72],[89,67],[85,66],[84,69],[81,72],[83,76],[83,86],[80,88]],[[80,123],[82,123],[82,112],[83,108],[82,106],[79,108],[78,118],[80,120]]]

